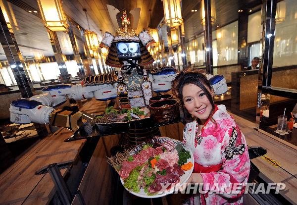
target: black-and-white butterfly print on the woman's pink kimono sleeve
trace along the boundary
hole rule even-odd
[[[232,159],[234,154],[244,154],[245,152],[245,144],[241,144],[236,146],[236,139],[237,139],[237,131],[235,127],[232,128],[232,134],[230,137],[230,144],[226,147],[224,154],[226,154],[226,159]]]

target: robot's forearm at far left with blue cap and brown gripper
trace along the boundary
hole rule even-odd
[[[66,127],[76,131],[82,124],[82,119],[92,121],[94,116],[84,112],[68,110],[55,110],[52,107],[42,105],[41,102],[18,99],[10,103],[10,121],[18,124],[39,123],[50,124],[57,127]]]

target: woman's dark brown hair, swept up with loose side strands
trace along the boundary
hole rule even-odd
[[[181,72],[173,82],[173,91],[174,94],[180,99],[181,104],[184,105],[183,101],[183,88],[185,85],[193,84],[198,86],[206,95],[207,99],[212,105],[211,114],[214,111],[214,100],[211,96],[212,86],[210,85],[209,81],[207,80],[206,76],[202,73],[192,71],[192,72]],[[183,106],[184,107],[184,106]],[[184,108],[185,117],[190,117],[191,115],[189,112]]]

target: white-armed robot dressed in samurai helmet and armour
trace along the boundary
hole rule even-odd
[[[10,104],[10,121],[19,124],[39,123],[66,127],[76,131],[83,120],[92,121],[94,116],[84,112],[54,109],[66,102],[67,97],[80,101],[95,98],[107,101],[119,98],[121,108],[142,107],[149,105],[152,91],[167,92],[171,90],[171,82],[176,77],[173,67],[146,70],[145,65],[153,62],[147,48],[154,43],[148,31],[137,36],[130,24],[126,12],[123,11],[122,29],[117,36],[105,32],[100,47],[107,48],[106,64],[120,67],[116,74],[101,74],[86,77],[81,85],[50,85],[42,90],[41,95],[30,99],[18,99]],[[207,76],[217,95],[227,92],[226,80],[222,75]]]

